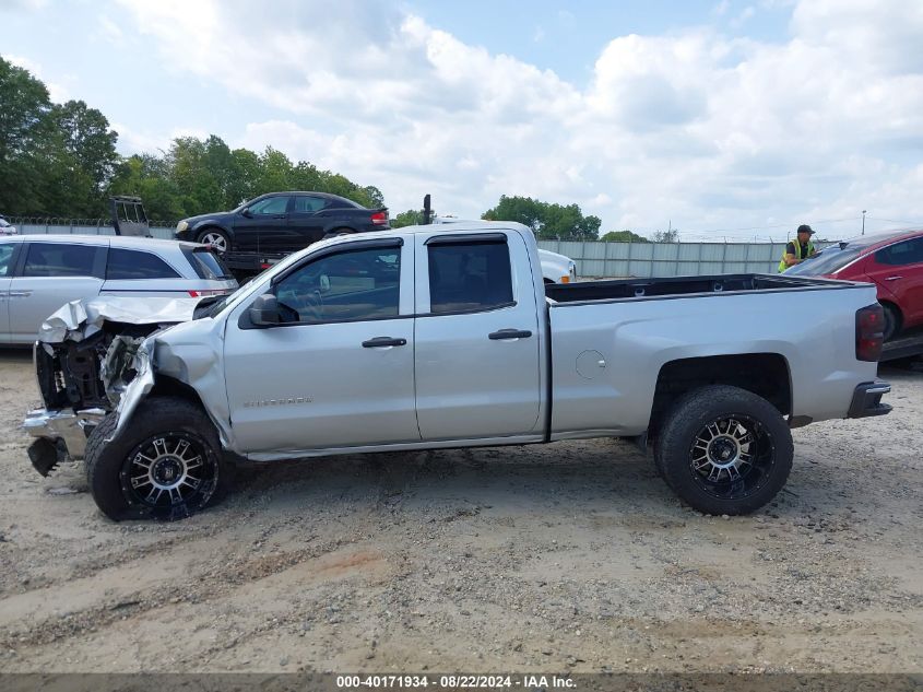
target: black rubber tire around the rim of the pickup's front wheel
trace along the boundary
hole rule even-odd
[[[103,419],[90,434],[85,454],[90,492],[96,506],[114,521],[182,519],[216,504],[226,494],[232,482],[232,467],[223,459],[217,431],[192,401],[151,397],[139,404],[128,426],[111,442],[106,442],[117,422],[115,413]],[[197,488],[188,499],[167,506],[153,506],[145,504],[131,488],[131,459],[141,454],[145,443],[164,437],[189,441],[198,449],[202,464],[210,469],[210,476],[201,482],[201,491]]]

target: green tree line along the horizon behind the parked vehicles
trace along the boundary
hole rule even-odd
[[[365,207],[384,206],[377,187],[293,162],[272,146],[230,149],[212,134],[177,138],[157,154],[121,156],[117,144],[118,132],[99,110],[83,101],[52,103],[40,80],[0,56],[0,214],[100,219],[109,214],[110,196],[130,195],[142,198],[152,220],[176,222],[279,190],[332,192]],[[504,195],[482,219],[517,221],[540,239],[648,242],[631,231],[600,237],[599,216],[584,215],[577,204],[530,197]],[[422,220],[422,210],[410,209],[391,225]],[[666,235],[654,242],[675,239]]]

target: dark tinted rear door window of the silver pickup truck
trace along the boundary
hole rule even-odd
[[[514,305],[510,253],[502,234],[427,242],[429,305],[434,315]]]

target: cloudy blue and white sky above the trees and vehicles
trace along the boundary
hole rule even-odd
[[[918,0],[0,0],[0,26],[123,153],[272,145],[392,213],[506,193],[689,241],[923,225]]]

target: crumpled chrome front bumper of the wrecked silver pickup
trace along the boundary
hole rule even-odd
[[[28,448],[28,458],[42,476],[67,457],[82,459],[90,431],[105,418],[103,409],[48,411],[33,409],[23,421],[23,429],[37,439]]]

